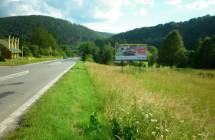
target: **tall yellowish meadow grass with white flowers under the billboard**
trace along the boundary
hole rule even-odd
[[[126,134],[136,139],[215,138],[213,76],[170,68],[142,72],[125,68],[122,73],[115,66],[87,67],[105,116],[118,128],[116,138],[126,139]]]

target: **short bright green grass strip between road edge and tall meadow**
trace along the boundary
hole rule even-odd
[[[88,72],[79,63],[24,115],[20,127],[5,139],[85,139],[90,116],[95,116],[98,103]]]

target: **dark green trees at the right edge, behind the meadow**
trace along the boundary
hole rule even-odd
[[[215,36],[200,38],[197,47],[187,50],[178,30],[171,31],[161,43],[158,63],[166,66],[215,68]]]

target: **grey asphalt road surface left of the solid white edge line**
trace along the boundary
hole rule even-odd
[[[76,61],[73,58],[0,67],[0,123]]]

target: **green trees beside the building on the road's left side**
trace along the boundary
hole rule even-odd
[[[28,41],[23,41],[24,56],[71,56],[71,50],[65,46],[59,46],[52,33],[49,33],[43,26],[38,25],[33,29]]]

